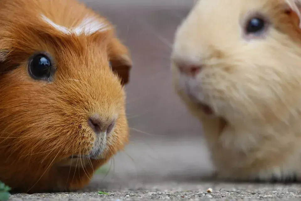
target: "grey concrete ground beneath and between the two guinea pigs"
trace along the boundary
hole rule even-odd
[[[301,200],[301,184],[210,179],[213,169],[205,147],[201,136],[136,138],[79,192],[14,194],[10,200]],[[211,193],[206,192],[208,188]]]

